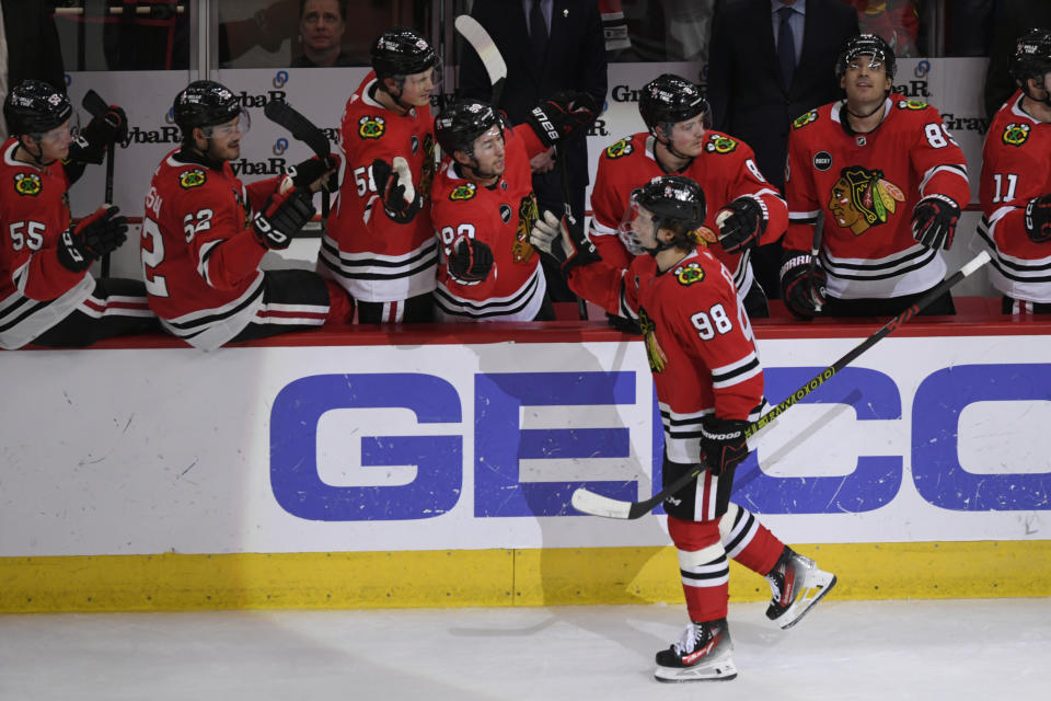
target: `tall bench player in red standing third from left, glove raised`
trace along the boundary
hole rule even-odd
[[[384,32],[372,45],[372,71],[343,114],[340,186],[319,263],[357,300],[360,323],[434,319],[430,92],[439,62],[418,32]]]

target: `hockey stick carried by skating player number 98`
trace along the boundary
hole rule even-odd
[[[760,416],[757,421],[750,423],[744,428],[746,438],[750,440],[755,436],[755,434],[773,424],[774,421],[776,421],[788,409],[799,403],[805,397],[828,382],[833,376],[835,376],[836,372],[840,372],[843,368],[853,363],[857,356],[871,348],[885,336],[893,333],[899,326],[915,317],[922,310],[926,309],[931,302],[948,291],[950,287],[986,263],[989,263],[989,253],[982,251],[969,263],[963,265],[963,267],[947,277],[942,281],[942,284],[915,301],[906,310],[883,324],[879,331],[855,346],[853,350],[827,367],[812,380],[789,394],[788,399],[783,401],[781,404],[777,404],[777,406],[774,406],[772,410]],[[690,482],[695,480],[697,475],[704,472],[705,469],[706,468],[703,464],[695,466],[694,469],[690,470],[690,472],[683,474],[681,478],[662,489],[650,498],[643,499],[642,502],[622,502],[620,499],[602,496],[601,494],[596,494],[594,492],[590,492],[584,487],[580,487],[573,493],[573,507],[578,512],[591,514],[592,516],[624,519],[638,518],[639,516],[644,516],[651,512],[658,504],[665,501],[665,497],[674,494],[682,487],[686,486]]]

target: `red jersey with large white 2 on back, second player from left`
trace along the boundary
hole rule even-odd
[[[153,172],[142,220],[142,275],[150,309],[173,335],[211,350],[244,329],[263,303],[266,254],[251,227],[278,179],[245,187],[221,168],[175,150]]]

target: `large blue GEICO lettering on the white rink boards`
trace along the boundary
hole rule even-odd
[[[767,368],[767,397],[771,402],[789,397],[819,371],[812,367]],[[300,378],[281,389],[270,411],[274,496],[297,517],[328,521],[432,518],[455,507],[465,494],[471,504],[464,508],[475,517],[573,515],[569,498],[578,486],[634,501],[661,483],[659,418],[642,425],[611,420],[607,426],[539,429],[523,428],[520,417],[538,411],[531,407],[613,405],[624,409],[611,410],[611,414],[643,412],[659,416],[645,375],[476,374],[473,391],[466,398],[446,379],[425,374]],[[971,436],[978,429],[972,420],[962,417],[972,405],[988,406],[990,402],[1025,402],[1015,411],[1037,411],[1031,406],[1051,395],[1051,364],[955,365],[931,372],[919,383],[914,379],[899,387],[889,375],[871,368],[847,367],[836,372],[835,384],[830,382],[799,403],[848,406],[852,421],[861,424],[858,430],[869,430],[866,422],[878,422],[893,426],[901,441],[867,450],[841,449],[838,455],[851,457],[830,458],[835,455],[829,450],[831,444],[848,444],[850,438],[831,432],[821,434],[821,428],[816,428],[811,439],[795,450],[808,451],[799,459],[821,469],[819,474],[766,474],[759,468],[762,456],[757,451],[737,469],[734,498],[762,514],[861,514],[880,509],[905,492],[909,494],[901,498],[906,503],[919,495],[929,507],[952,512],[1048,509],[1046,484],[1051,472],[1046,467],[1027,467],[1033,461],[1047,466],[1039,444],[1032,445],[1031,459],[1005,469],[1005,458],[990,455],[988,441],[973,443]],[[908,388],[904,397],[903,388]],[[471,421],[464,418],[464,401],[474,404]],[[327,452],[331,464],[357,459],[333,455],[333,441],[338,444],[339,439],[331,433],[337,430],[332,417],[342,415],[338,421],[344,426],[353,425],[354,411],[347,410],[396,410],[414,417],[384,424],[379,429],[381,435],[355,439],[360,467],[402,466],[408,470],[408,479],[390,485],[378,476],[380,484],[357,482],[348,486],[322,478],[319,455]],[[328,427],[320,430],[326,414]],[[985,423],[980,428],[983,436],[996,436],[1000,428],[1013,429]],[[632,437],[640,433],[654,434],[652,451],[633,458]],[[464,461],[465,441],[473,443],[472,462]],[[784,452],[784,448],[778,451]],[[865,455],[869,451],[877,455]],[[565,472],[550,473],[552,481],[540,481],[520,468],[521,460],[586,464],[590,459],[621,461],[626,464],[625,474],[636,474],[642,467],[644,474],[637,480],[586,480],[580,474],[588,474],[589,468],[578,472],[565,467],[558,468]],[[844,463],[829,463],[834,460]],[[473,490],[464,492],[466,470],[472,471]],[[833,476],[824,476],[830,474]]]

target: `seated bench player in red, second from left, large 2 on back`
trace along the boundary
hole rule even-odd
[[[243,185],[230,161],[241,156],[247,114],[210,80],[175,96],[181,148],[153,173],[142,222],[142,273],[164,329],[205,350],[230,342],[345,323],[353,301],[311,271],[259,269],[268,251],[288,248],[314,214],[311,191],[334,169],[320,159]]]

